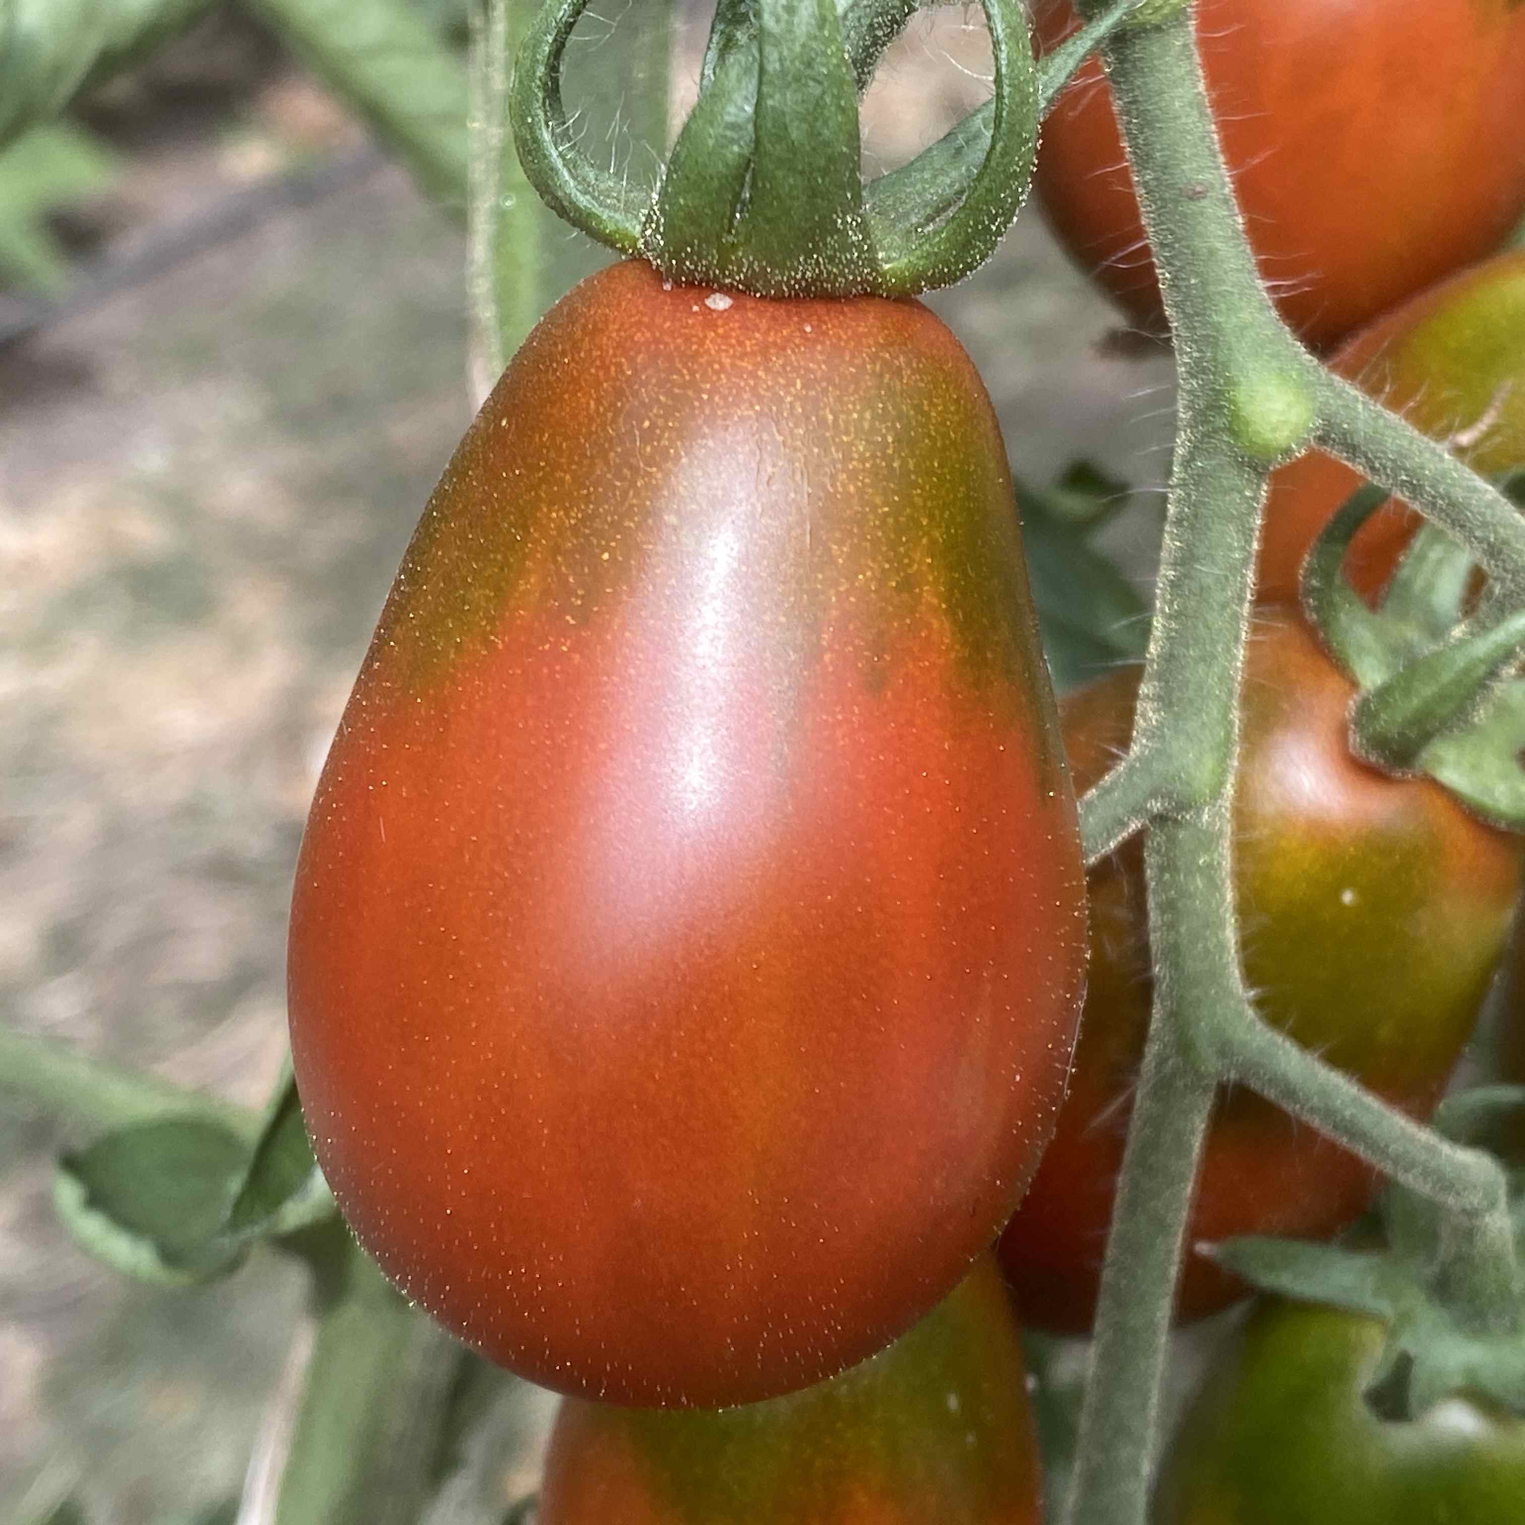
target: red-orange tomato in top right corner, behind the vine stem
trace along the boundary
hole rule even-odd
[[[1283,316],[1327,348],[1496,249],[1525,212],[1525,8],[1516,0],[1197,0],[1246,233]],[[1039,0],[1046,46],[1075,26]],[[1164,326],[1101,66],[1043,127],[1054,229],[1118,303]]]

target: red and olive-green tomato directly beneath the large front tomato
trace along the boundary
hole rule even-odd
[[[888,1350],[732,1409],[567,1398],[540,1525],[1037,1525],[1022,1345],[991,1257]]]

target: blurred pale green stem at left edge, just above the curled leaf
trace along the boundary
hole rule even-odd
[[[0,1026],[0,1089],[99,1132],[186,1115],[250,1139],[259,1132],[259,1115],[246,1107],[8,1026]]]

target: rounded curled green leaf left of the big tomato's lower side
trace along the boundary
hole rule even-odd
[[[224,1232],[246,1179],[249,1144],[201,1118],[139,1122],[66,1154],[53,1203],[98,1260],[142,1281],[226,1275],[246,1243]]]

